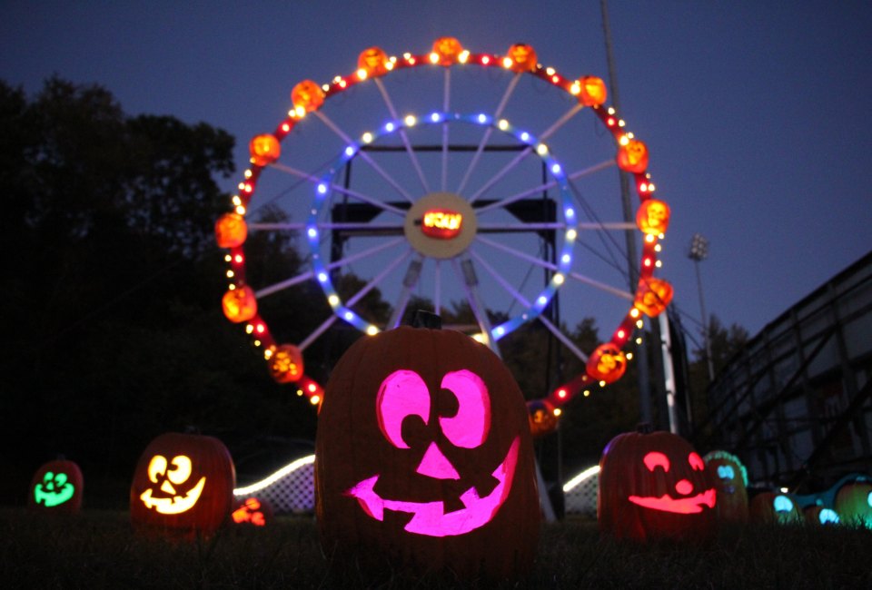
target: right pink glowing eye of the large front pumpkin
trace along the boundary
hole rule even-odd
[[[490,396],[484,381],[464,369],[447,373],[441,387],[451,391],[458,403],[457,414],[439,418],[445,437],[455,447],[479,447],[490,432]]]

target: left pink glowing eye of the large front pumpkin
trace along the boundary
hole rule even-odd
[[[388,375],[375,403],[381,433],[397,448],[409,448],[402,439],[405,418],[417,416],[424,424],[430,419],[430,391],[415,371],[401,369]]]

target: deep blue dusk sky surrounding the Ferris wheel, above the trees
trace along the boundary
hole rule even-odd
[[[294,84],[352,74],[372,45],[425,54],[451,35],[504,54],[522,42],[561,74],[608,79],[594,0],[7,0],[0,15],[7,83],[35,93],[58,74],[104,85],[126,113],[223,128],[240,173],[249,139],[275,129]],[[872,3],[612,0],[609,16],[619,114],[648,144],[672,209],[658,276],[686,324],[699,318],[687,257],[696,232],[709,241],[708,312],[751,335],[872,250]],[[607,330],[617,320],[583,312]]]

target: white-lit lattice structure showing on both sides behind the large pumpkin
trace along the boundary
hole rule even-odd
[[[293,460],[272,475],[250,486],[237,487],[233,496],[256,496],[266,500],[276,513],[312,512],[315,508],[315,456]],[[564,486],[566,513],[596,516],[599,466],[572,477]]]

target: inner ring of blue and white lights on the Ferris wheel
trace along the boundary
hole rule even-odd
[[[409,115],[407,115],[401,120],[391,120],[387,123],[382,124],[376,132],[367,133],[367,141],[365,143],[375,143],[379,139],[381,139],[381,137],[385,137],[393,133],[399,133],[401,130],[409,129],[414,126],[431,125],[437,123],[469,123],[473,125],[479,125],[481,127],[490,127],[497,132],[507,133],[513,136],[521,143],[526,143],[530,148],[533,149],[533,152],[536,152],[540,156],[542,162],[545,163],[546,168],[554,179],[554,182],[556,182],[558,187],[560,188],[560,212],[562,213],[564,221],[566,222],[567,229],[563,233],[563,244],[560,249],[560,256],[558,258],[557,272],[554,274],[554,276],[551,277],[548,285],[543,290],[541,290],[540,293],[537,294],[536,297],[530,302],[530,306],[528,306],[526,310],[521,311],[517,315],[511,317],[509,320],[506,320],[499,326],[495,326],[491,329],[490,336],[494,341],[496,341],[503,338],[514,329],[519,328],[527,321],[534,320],[537,316],[539,316],[542,310],[544,310],[548,306],[550,300],[554,297],[554,294],[560,288],[560,285],[563,283],[563,280],[565,280],[565,277],[569,273],[570,267],[572,265],[572,251],[575,245],[575,236],[577,234],[577,232],[573,231],[573,228],[570,227],[570,223],[572,223],[572,220],[575,219],[575,209],[574,202],[572,200],[572,192],[570,191],[569,181],[566,175],[563,173],[563,167],[560,165],[560,162],[558,162],[557,159],[554,158],[550,150],[541,153],[536,150],[536,147],[542,144],[532,133],[524,132],[513,127],[505,119],[501,119],[500,121],[494,121],[493,117],[481,113],[431,113],[421,118],[411,118]],[[332,164],[328,168],[328,172],[326,172],[321,177],[319,182],[315,183],[313,189],[314,199],[312,203],[312,209],[310,210],[309,217],[306,221],[305,233],[307,238],[306,244],[309,246],[309,253],[312,257],[312,268],[314,270],[315,277],[318,280],[318,284],[321,286],[321,289],[323,290],[324,296],[327,298],[328,303],[330,303],[333,313],[340,320],[344,320],[352,324],[352,326],[363,332],[372,334],[379,330],[378,327],[372,325],[366,320],[363,320],[360,315],[347,307],[342,301],[342,298],[339,296],[339,293],[333,286],[332,280],[330,279],[330,273],[328,272],[327,267],[324,265],[322,259],[321,232],[318,230],[318,217],[322,213],[324,203],[328,201],[327,196],[330,192],[329,187],[332,186],[336,174],[338,174],[339,171],[342,170],[345,164],[349,160],[351,160],[357,154],[357,152],[360,151],[360,149],[360,143],[352,143],[350,145],[347,145],[345,149],[342,150],[340,156],[334,162],[332,162]]]

